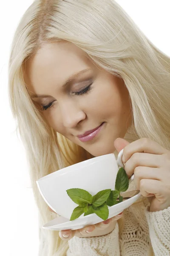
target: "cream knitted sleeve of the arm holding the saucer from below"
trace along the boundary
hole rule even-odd
[[[105,236],[79,238],[74,236],[68,241],[67,256],[120,256],[119,226]]]

